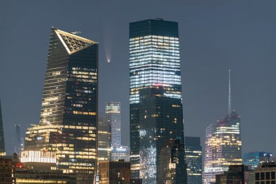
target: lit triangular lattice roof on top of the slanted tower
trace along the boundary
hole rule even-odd
[[[87,48],[90,45],[97,43],[90,39],[79,37],[76,34],[72,34],[55,28],[53,28],[53,30],[57,34],[57,37],[59,37],[61,43],[66,48],[68,54],[72,54],[74,52],[82,50],[83,48]]]

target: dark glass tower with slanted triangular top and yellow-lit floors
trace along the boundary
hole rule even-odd
[[[57,170],[75,172],[79,181],[82,176],[92,180],[97,99],[98,43],[52,28],[40,123],[27,130],[24,155],[41,152],[37,154],[41,161],[55,156],[50,161],[56,159]]]

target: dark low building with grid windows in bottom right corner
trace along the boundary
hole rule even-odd
[[[262,163],[254,170],[255,184],[275,184],[276,164],[274,162]]]

